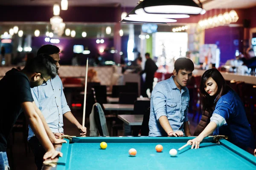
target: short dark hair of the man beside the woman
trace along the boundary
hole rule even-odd
[[[174,69],[178,73],[179,70],[184,69],[186,71],[194,70],[194,63],[189,58],[178,58],[174,63]]]

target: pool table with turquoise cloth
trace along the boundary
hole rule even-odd
[[[189,146],[171,157],[169,150],[195,137],[74,137],[62,144],[56,167],[47,170],[256,170],[256,157],[225,139],[207,137],[199,149]],[[108,147],[100,149],[105,141]],[[161,144],[163,151],[156,152]],[[135,148],[137,155],[129,156]]]

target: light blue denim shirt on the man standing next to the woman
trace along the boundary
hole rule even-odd
[[[189,90],[177,88],[171,78],[160,81],[154,87],[150,100],[149,136],[166,136],[159,123],[161,116],[166,116],[174,131],[184,132],[183,123],[188,121]]]

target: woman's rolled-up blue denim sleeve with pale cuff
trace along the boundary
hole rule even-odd
[[[230,104],[225,101],[219,102],[212,113],[210,121],[215,122],[217,124],[217,127],[221,127],[222,125],[227,124],[226,120],[230,117],[230,114],[232,113],[233,111],[230,107]]]

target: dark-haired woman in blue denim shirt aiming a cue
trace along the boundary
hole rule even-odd
[[[254,149],[253,133],[243,103],[217,69],[204,72],[200,92],[203,110],[212,115],[204,131],[188,141],[191,142],[191,148],[199,148],[200,142],[213,133],[228,136],[228,141],[244,150]]]

